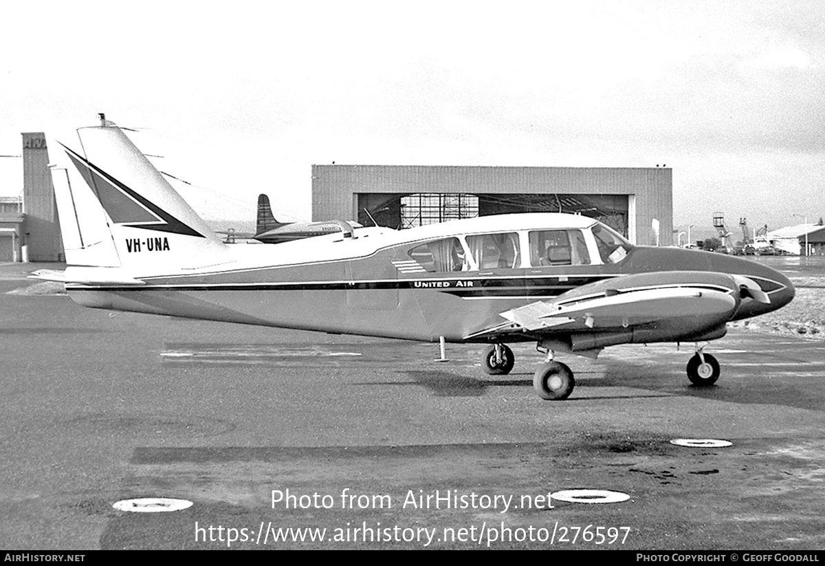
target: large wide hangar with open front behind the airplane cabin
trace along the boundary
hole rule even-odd
[[[450,219],[565,212],[599,219],[632,243],[672,244],[668,167],[314,165],[312,217],[411,228]]]

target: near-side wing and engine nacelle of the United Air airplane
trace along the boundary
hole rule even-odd
[[[742,300],[770,301],[756,282],[707,271],[616,276],[500,313],[506,322],[465,337],[521,335],[556,339],[590,350],[617,343],[691,340],[721,332]]]

